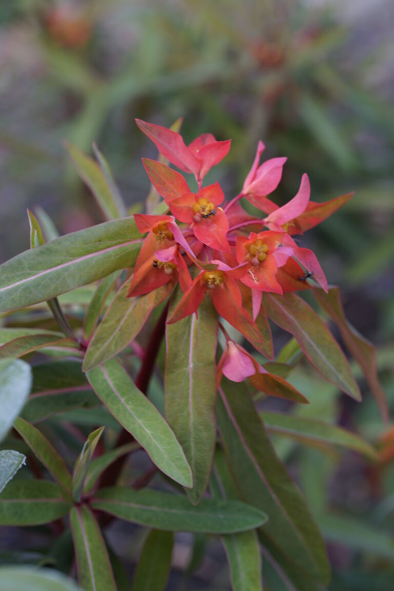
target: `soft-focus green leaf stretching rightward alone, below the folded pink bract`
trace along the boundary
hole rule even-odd
[[[377,459],[373,447],[361,437],[336,425],[282,413],[260,413],[269,433],[285,435],[306,443],[328,443]]]

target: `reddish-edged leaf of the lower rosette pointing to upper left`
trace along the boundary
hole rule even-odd
[[[71,474],[63,458],[57,453],[53,445],[37,428],[20,417],[15,421],[14,428],[56,480],[66,498],[69,499]]]

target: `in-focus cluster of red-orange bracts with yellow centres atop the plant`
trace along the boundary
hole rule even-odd
[[[135,214],[139,231],[148,235],[136,261],[129,297],[179,282],[183,297],[167,320],[174,323],[197,312],[209,293],[219,315],[256,346],[262,342],[256,319],[264,313],[263,292],[305,290],[310,278],[327,291],[316,256],[298,246],[292,236],[320,223],[350,195],[312,202],[310,182],[304,174],[295,197],[279,207],[268,195],[281,181],[286,158],[261,164],[265,146],[259,142],[242,191],[226,202],[219,183],[203,187],[203,178],[227,155],[230,141],[216,141],[213,135],[203,134],[187,146],[181,135],[170,129],[139,120],[137,125],[164,158],[194,174],[198,190],[193,193],[182,174],[167,165],[143,159],[146,173],[171,215]],[[261,210],[262,216],[246,212],[241,199]],[[244,355],[242,348],[230,346],[227,358],[235,351],[237,356]],[[250,363],[245,359],[246,366]],[[227,365],[223,363],[224,373]]]

